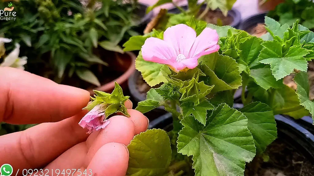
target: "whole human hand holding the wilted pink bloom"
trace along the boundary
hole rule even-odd
[[[11,164],[13,175],[30,168],[92,169],[98,176],[126,174],[126,145],[148,127],[142,113],[129,109],[131,101],[125,103],[131,117],[113,116],[105,129],[88,135],[78,125],[87,112],[82,108],[89,102],[88,91],[8,67],[0,68],[0,81],[0,122],[42,123],[0,136],[0,163]]]

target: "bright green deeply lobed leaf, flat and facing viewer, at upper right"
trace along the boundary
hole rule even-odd
[[[307,70],[307,61],[304,56],[309,52],[301,46],[292,46],[284,54],[281,44],[276,40],[266,41],[262,45],[263,49],[258,55],[258,60],[260,63],[270,64],[270,69],[276,80],[289,75],[293,69]]]

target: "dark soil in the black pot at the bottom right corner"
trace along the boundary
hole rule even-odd
[[[255,157],[246,164],[245,176],[313,176],[313,164],[306,156],[291,148],[281,138],[266,149],[269,159]],[[267,158],[267,157],[264,157]]]

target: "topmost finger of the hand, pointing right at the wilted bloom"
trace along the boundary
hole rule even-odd
[[[14,68],[0,67],[0,82],[0,122],[57,122],[77,114],[89,101],[88,91]]]

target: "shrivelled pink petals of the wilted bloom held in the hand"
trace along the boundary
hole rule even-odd
[[[78,123],[81,127],[87,128],[89,131],[88,134],[104,129],[110,121],[103,121],[103,116],[105,112],[101,105],[96,105],[92,110],[90,110]]]

